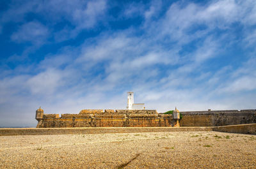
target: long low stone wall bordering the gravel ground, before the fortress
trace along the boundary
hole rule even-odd
[[[219,127],[183,127],[183,128],[0,128],[0,136],[12,135],[78,135],[98,133],[141,133],[171,131],[221,131],[256,135],[256,124],[241,124]]]

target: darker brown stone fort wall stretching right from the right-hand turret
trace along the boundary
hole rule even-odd
[[[180,126],[227,126],[256,123],[256,110],[180,112]]]

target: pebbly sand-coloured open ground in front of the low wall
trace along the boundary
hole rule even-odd
[[[0,136],[0,168],[256,168],[256,136],[215,131]]]

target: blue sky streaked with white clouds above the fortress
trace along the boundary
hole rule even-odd
[[[35,111],[256,108],[256,1],[0,2],[0,127]]]

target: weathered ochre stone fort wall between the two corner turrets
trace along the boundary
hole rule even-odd
[[[172,115],[156,110],[81,110],[79,114],[46,114],[37,128],[170,127]]]

